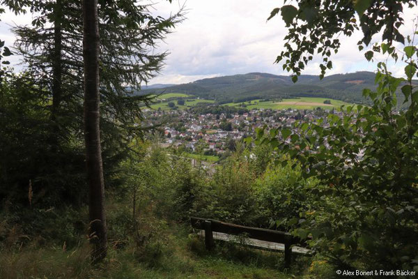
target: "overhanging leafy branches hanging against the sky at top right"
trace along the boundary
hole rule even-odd
[[[317,52],[323,57],[320,64],[320,78],[323,79],[325,71],[332,68],[332,52],[336,54],[341,46],[339,34],[351,36],[355,29],[361,29],[363,38],[358,42],[359,50],[369,45],[373,35],[380,31],[382,40],[389,46],[394,41],[405,43],[405,37],[399,32],[403,25],[403,6],[412,8],[416,4],[412,0],[300,0],[297,7],[274,8],[268,20],[281,10],[281,17],[288,27],[285,50],[277,56],[276,62],[284,61],[283,69],[292,71],[295,74],[293,82],[296,82]],[[372,51],[366,52],[368,60],[372,56]]]

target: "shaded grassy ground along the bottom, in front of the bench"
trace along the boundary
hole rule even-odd
[[[157,236],[156,239],[159,239]],[[171,224],[164,231],[167,241],[141,254],[131,241],[125,248],[110,246],[107,258],[92,265],[86,242],[72,250],[61,247],[17,248],[0,251],[0,278],[300,278],[309,259],[297,259],[284,272],[283,254],[251,250],[232,243],[218,243],[208,252],[204,240],[189,234],[189,227]]]

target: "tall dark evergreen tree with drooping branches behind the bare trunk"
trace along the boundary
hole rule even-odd
[[[80,196],[86,197],[85,186],[79,183],[79,172],[68,171],[79,163],[84,166],[79,160],[84,149],[82,1],[3,0],[1,3],[16,13],[23,13],[24,6],[36,13],[31,26],[13,28],[17,35],[15,47],[27,65],[26,79],[31,78],[33,84],[42,88],[38,99],[45,104],[49,115],[45,121],[49,127],[45,133],[49,135],[42,142],[42,148],[45,147],[42,153],[50,163],[34,165],[31,171],[17,169],[16,172],[22,177],[31,173],[37,193],[56,193],[49,202],[59,203],[63,197],[73,202]],[[162,67],[167,53],[154,54],[153,47],[179,22],[181,13],[167,19],[155,17],[148,6],[131,0],[99,0],[98,7],[100,128],[104,174],[109,177],[116,163],[126,156],[126,143],[144,131],[134,123],[141,121],[139,105],[148,103],[150,98],[136,93],[141,82],[148,81]],[[8,158],[4,163],[10,164],[13,159]],[[42,167],[47,170],[40,170]],[[17,181],[4,183],[12,185]],[[27,189],[27,179],[17,184],[22,190]]]

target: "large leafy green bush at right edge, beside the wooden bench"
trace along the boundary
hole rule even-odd
[[[290,144],[267,140],[297,160],[304,177],[320,181],[310,190],[311,208],[300,214],[295,234],[311,235],[311,246],[341,268],[418,268],[418,92],[409,71],[407,80],[395,78],[379,63],[377,90],[363,92],[371,107],[347,107],[342,117],[299,123],[300,135],[291,135]],[[401,84],[408,109],[396,111]],[[288,131],[282,134],[284,139]]]

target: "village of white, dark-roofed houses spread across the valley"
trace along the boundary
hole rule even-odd
[[[336,115],[341,112],[332,110]],[[199,114],[196,110],[147,110],[145,119],[148,125],[162,123],[162,146],[184,149],[189,153],[204,153],[210,156],[222,156],[246,137],[256,134],[257,128],[294,128],[297,120],[314,122],[328,114],[319,107],[316,110],[267,110],[254,109],[231,114]],[[323,125],[327,125],[324,121]]]

